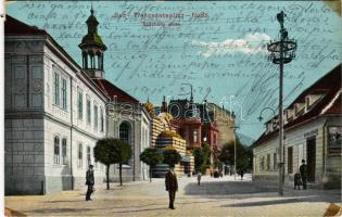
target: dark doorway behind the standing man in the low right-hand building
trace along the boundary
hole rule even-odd
[[[306,140],[307,181],[315,181],[316,137]]]

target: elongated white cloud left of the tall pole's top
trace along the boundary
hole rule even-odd
[[[210,58],[226,53],[241,52],[244,54],[267,53],[266,43],[270,37],[266,34],[248,34],[244,38],[226,39],[221,42],[192,40],[192,46],[203,49],[200,54]]]

